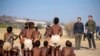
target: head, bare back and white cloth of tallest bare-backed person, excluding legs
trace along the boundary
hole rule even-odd
[[[52,37],[50,45],[59,45],[60,44],[60,37],[63,35],[62,28],[59,25],[59,18],[55,17],[53,20],[53,26],[51,27]]]

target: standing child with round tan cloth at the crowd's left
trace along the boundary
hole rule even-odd
[[[8,55],[11,56],[11,49],[13,47],[13,43],[14,40],[16,40],[18,38],[17,35],[15,35],[13,32],[13,28],[11,26],[7,27],[7,33],[4,34],[4,45],[3,45],[3,49],[4,49],[4,56]],[[14,38],[16,37],[16,38]]]

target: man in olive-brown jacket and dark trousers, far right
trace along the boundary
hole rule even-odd
[[[96,29],[96,23],[93,20],[92,15],[88,16],[89,21],[87,21],[85,27],[87,29],[87,35],[88,35],[88,43],[89,43],[89,48],[92,48],[92,44],[94,49],[96,48],[95,40],[94,40],[94,33]]]

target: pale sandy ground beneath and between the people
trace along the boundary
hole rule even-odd
[[[0,39],[3,39],[3,35],[4,35],[5,32],[6,32],[5,28],[0,28]],[[15,34],[19,34],[20,29],[14,29],[13,32]],[[41,34],[43,36],[45,30],[42,29],[42,30],[40,30],[40,32],[41,32]],[[63,35],[63,37],[61,37],[61,43],[62,43],[61,44],[61,49],[62,49],[62,47],[65,46],[66,40],[70,40],[73,43],[73,47],[75,47],[75,39],[74,38],[69,38],[67,36],[66,32],[65,31],[63,31],[63,32],[64,32],[64,35]],[[42,43],[43,43],[44,39],[45,39],[45,37],[43,36],[42,39],[41,39],[41,46],[42,46]],[[75,50],[76,56],[100,56],[100,40],[95,40],[95,41],[96,41],[97,49],[95,49],[95,50],[89,50],[89,49],[87,49],[88,48],[88,42],[87,42],[87,40],[86,41],[82,40],[81,41],[81,49],[80,50]],[[15,41],[15,43],[18,46],[20,46],[19,39],[17,39]]]

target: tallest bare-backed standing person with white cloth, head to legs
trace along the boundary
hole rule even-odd
[[[57,56],[60,46],[60,37],[63,35],[62,27],[59,25],[59,18],[55,17],[53,20],[53,25],[51,26],[52,37],[50,40],[50,55]],[[58,50],[56,50],[58,49]],[[57,52],[56,52],[57,51]]]

